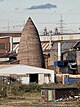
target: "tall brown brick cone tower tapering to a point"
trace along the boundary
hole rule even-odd
[[[31,18],[23,28],[17,59],[20,64],[44,68],[39,34]]]

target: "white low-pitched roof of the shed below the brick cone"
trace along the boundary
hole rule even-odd
[[[27,65],[14,65],[12,67],[0,69],[0,75],[9,75],[9,74],[50,74],[54,73],[54,70],[43,69],[38,67],[32,67]]]

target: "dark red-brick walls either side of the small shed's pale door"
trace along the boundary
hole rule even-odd
[[[49,89],[44,89],[44,90],[45,90],[45,95],[42,96],[42,99],[45,102],[48,102],[48,90]],[[53,89],[52,100],[56,100],[59,98],[68,98],[69,96],[77,96],[79,94],[80,94],[80,90],[74,89],[74,88]]]

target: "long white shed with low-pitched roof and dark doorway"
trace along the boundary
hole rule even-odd
[[[31,82],[36,82],[38,84],[55,82],[54,70],[27,65],[13,65],[12,67],[5,68],[0,66],[0,68],[0,76],[20,78],[23,84],[29,84]]]

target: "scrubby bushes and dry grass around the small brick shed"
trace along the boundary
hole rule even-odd
[[[40,91],[41,87],[66,87],[71,86],[71,84],[43,84],[39,85],[37,83],[30,83],[28,85],[21,84],[19,82],[6,84],[0,83],[0,105],[1,104],[44,104]],[[80,83],[72,84],[72,86],[77,86],[80,88]],[[79,101],[75,102],[78,104]]]

